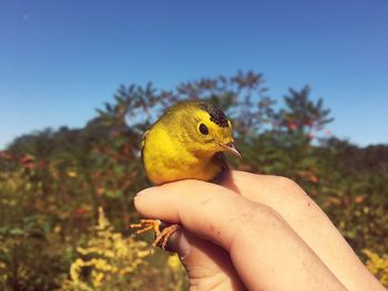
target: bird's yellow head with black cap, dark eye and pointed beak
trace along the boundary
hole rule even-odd
[[[185,116],[185,132],[190,150],[197,156],[213,156],[227,152],[242,157],[233,138],[232,123],[218,107],[195,102]]]

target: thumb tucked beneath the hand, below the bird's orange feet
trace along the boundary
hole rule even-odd
[[[181,228],[170,238],[169,249],[178,253],[191,289],[246,290],[223,248]]]

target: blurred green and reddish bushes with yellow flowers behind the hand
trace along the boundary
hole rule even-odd
[[[325,128],[330,112],[309,86],[275,101],[262,74],[237,72],[170,91],[122,85],[85,127],[20,136],[0,152],[0,289],[121,290],[139,283],[141,290],[152,283],[165,290],[182,281],[177,269],[166,268],[178,266],[175,257],[133,257],[143,242],[127,238],[126,225],[139,219],[134,194],[150,185],[140,160],[142,133],[185,98],[210,100],[232,117],[245,157],[232,158],[233,167],[296,180],[358,254],[368,249],[385,258],[388,147],[359,148],[331,136]],[[139,267],[124,267],[132,264]]]

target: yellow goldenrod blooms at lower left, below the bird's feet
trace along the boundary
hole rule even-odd
[[[70,267],[70,280],[62,290],[182,290],[183,269],[171,263],[156,269],[145,258],[152,254],[144,241],[113,232],[103,209],[99,208],[95,236],[86,247],[78,247],[79,258]],[[169,263],[170,262],[170,263]],[[159,278],[166,278],[162,282]]]

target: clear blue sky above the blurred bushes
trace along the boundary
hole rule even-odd
[[[313,87],[359,145],[388,143],[388,1],[1,1],[0,148],[81,127],[119,84],[170,89],[237,70],[269,94]]]

